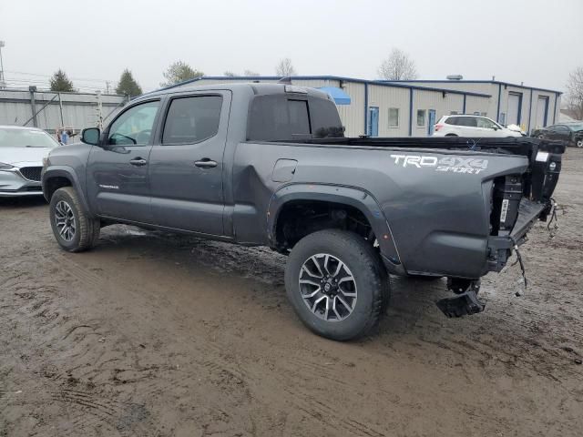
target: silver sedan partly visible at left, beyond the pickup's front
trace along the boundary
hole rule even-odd
[[[59,143],[35,127],[0,126],[0,198],[43,194],[43,158]]]

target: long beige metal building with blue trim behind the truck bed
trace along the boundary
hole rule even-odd
[[[202,76],[189,85],[280,79],[280,76]],[[435,122],[449,114],[479,114],[502,125],[520,125],[530,132],[554,123],[560,107],[558,91],[496,81],[389,82],[292,76],[292,84],[326,88],[329,92],[337,89],[337,93],[331,94],[349,137],[426,137],[433,133]]]

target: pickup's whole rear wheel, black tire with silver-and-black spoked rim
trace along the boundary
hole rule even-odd
[[[293,309],[313,332],[332,340],[362,337],[388,300],[386,269],[373,247],[352,232],[327,229],[300,240],[285,269]]]

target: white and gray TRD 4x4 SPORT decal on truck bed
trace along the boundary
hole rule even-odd
[[[445,157],[437,158],[429,155],[391,155],[394,164],[402,167],[434,168],[435,171],[467,173],[477,175],[488,167],[488,160],[481,158]]]

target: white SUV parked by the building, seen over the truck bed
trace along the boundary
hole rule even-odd
[[[502,127],[487,117],[451,115],[439,119],[434,137],[522,137],[517,130]]]

